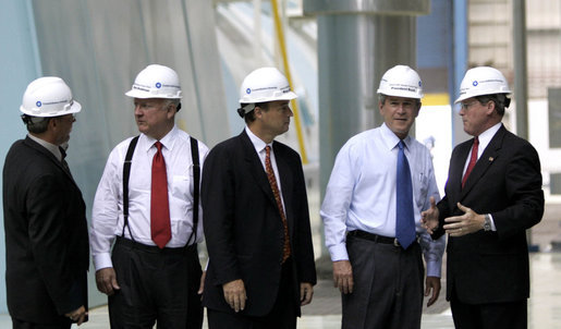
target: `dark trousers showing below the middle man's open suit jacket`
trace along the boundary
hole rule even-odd
[[[263,317],[246,316],[240,313],[224,313],[207,308],[209,329],[295,329],[296,305],[292,280],[292,261],[282,265],[279,292],[272,310]],[[269,292],[261,292],[269,293]]]

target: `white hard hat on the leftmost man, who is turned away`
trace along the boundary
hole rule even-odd
[[[24,114],[44,118],[77,113],[81,109],[70,87],[57,76],[34,80],[27,85],[20,107]]]

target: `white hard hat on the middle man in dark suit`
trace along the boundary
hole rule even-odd
[[[261,68],[249,73],[240,87],[240,103],[255,103],[296,98],[289,81],[276,68]]]

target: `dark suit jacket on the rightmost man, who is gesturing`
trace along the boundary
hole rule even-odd
[[[456,207],[461,203],[477,214],[490,214],[497,231],[449,237],[447,298],[455,293],[467,304],[525,300],[529,296],[526,230],[544,215],[538,154],[501,126],[462,188],[472,145],[473,139],[452,151],[446,196],[438,204],[439,227],[444,218],[464,214]]]

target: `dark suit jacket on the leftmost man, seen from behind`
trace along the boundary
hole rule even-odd
[[[3,168],[5,283],[10,315],[39,324],[87,307],[85,204],[60,161],[29,137]]]

